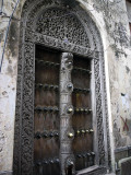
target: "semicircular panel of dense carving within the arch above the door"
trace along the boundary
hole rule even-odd
[[[39,16],[36,32],[64,43],[88,47],[87,34],[82,23],[68,10],[48,9]]]

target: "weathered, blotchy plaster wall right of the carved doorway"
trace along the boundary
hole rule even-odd
[[[116,151],[128,150],[127,145],[131,145],[131,50],[127,7],[124,1],[112,0],[96,3],[95,8],[103,11],[108,40],[105,58],[107,57],[108,63],[107,77],[109,74],[109,124],[114,127],[112,135],[110,130],[110,136],[114,137],[111,145],[115,145]],[[126,154],[120,152],[119,158],[116,154],[117,161],[129,156],[128,151]]]

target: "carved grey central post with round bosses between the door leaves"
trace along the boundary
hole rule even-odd
[[[60,164],[61,175],[74,174],[74,156],[72,153],[72,129],[73,106],[71,93],[71,71],[73,68],[73,55],[62,52],[60,65]]]

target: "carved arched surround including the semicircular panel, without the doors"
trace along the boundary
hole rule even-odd
[[[63,21],[58,20],[58,16],[62,16]],[[94,136],[96,162],[109,168],[110,145],[104,52],[99,32],[91,16],[79,4],[74,8],[67,8],[59,0],[38,0],[37,2],[27,0],[23,7],[20,36],[14,174],[33,174],[36,44],[92,59],[94,121],[97,128]]]

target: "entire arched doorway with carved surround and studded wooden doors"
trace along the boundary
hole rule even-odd
[[[79,4],[28,0],[21,22],[14,174],[68,175],[107,168],[98,30]]]

